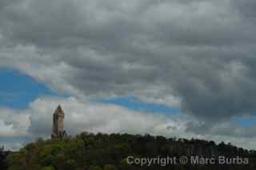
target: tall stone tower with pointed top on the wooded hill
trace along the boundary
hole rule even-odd
[[[58,105],[58,108],[54,112],[51,138],[63,138],[66,136],[66,132],[64,131],[64,117],[65,114],[62,107]]]

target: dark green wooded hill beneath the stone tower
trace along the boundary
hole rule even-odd
[[[128,157],[162,159],[167,156],[244,157],[249,164],[130,164]],[[27,144],[19,152],[0,149],[0,169],[8,170],[141,170],[141,169],[256,169],[256,151],[214,141],[186,140],[163,136],[93,134],[82,132],[64,140],[42,140]]]

